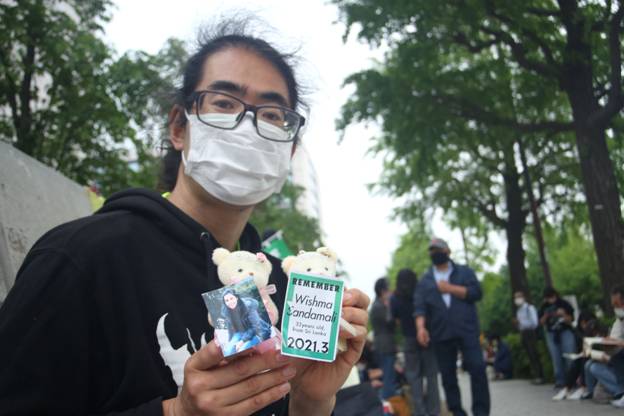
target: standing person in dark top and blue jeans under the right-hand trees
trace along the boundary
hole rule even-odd
[[[540,324],[545,329],[546,345],[555,372],[555,388],[565,387],[565,375],[571,360],[564,354],[576,352],[576,337],[572,330],[574,308],[552,287],[544,289],[544,303],[539,310]]]

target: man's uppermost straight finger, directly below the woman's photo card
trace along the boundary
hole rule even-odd
[[[219,367],[211,372],[212,388],[223,388],[245,380],[261,371],[283,367],[292,360],[281,355],[279,351],[268,351],[264,354],[253,354],[237,358],[228,365]]]

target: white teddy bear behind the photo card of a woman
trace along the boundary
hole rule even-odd
[[[276,292],[275,285],[269,285],[269,276],[273,267],[264,253],[253,254],[249,251],[230,252],[220,247],[213,251],[212,261],[217,265],[217,275],[224,286],[253,277],[271,323],[273,325],[277,323],[279,312],[271,296],[269,296]]]

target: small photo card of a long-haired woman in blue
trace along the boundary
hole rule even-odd
[[[248,350],[274,333],[252,277],[202,293],[202,297],[224,357]]]

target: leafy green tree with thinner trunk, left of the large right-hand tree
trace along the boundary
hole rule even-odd
[[[492,229],[504,231],[511,287],[526,291],[523,238],[529,204],[517,144],[532,138],[531,133],[475,121],[452,106],[440,106],[438,97],[452,91],[476,103],[493,101],[499,112],[517,118],[525,113],[516,108],[514,91],[552,87],[539,78],[515,75],[501,60],[492,61],[492,53],[457,54],[458,62],[449,62],[448,56],[431,53],[426,45],[398,45],[382,67],[346,80],[355,85],[356,93],[343,107],[338,126],[381,120],[382,134],[374,146],[385,153],[379,188],[404,197],[404,218],[410,221],[413,214],[440,207],[464,235],[470,228],[478,231],[476,236]],[[551,97],[538,99],[559,99],[556,94]],[[537,178],[539,203],[566,205],[568,195],[557,195],[555,187],[576,189],[570,138],[530,140],[525,147],[531,159],[527,169]]]

